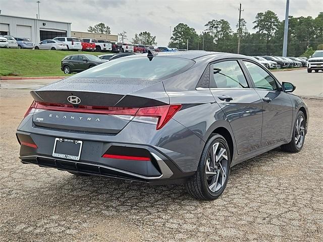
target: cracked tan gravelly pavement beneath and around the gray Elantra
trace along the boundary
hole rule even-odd
[[[29,90],[0,90],[0,241],[322,241],[322,99],[306,99],[303,150],[280,149],[231,170],[223,196],[23,165],[15,130]]]

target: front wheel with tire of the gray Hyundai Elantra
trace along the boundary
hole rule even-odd
[[[299,111],[296,115],[293,136],[291,142],[286,145],[282,145],[283,151],[297,153],[303,148],[306,135],[306,119],[302,111]]]

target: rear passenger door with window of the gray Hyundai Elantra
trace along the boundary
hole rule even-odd
[[[260,148],[262,101],[250,87],[240,61],[212,63],[210,71],[210,90],[228,118],[238,154]]]

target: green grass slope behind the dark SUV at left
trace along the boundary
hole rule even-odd
[[[61,71],[64,56],[77,51],[0,48],[0,76],[67,76]],[[82,52],[99,55],[100,52]]]

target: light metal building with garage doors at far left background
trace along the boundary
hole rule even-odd
[[[30,38],[38,43],[57,36],[71,36],[71,23],[0,15],[0,35]]]

